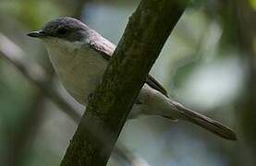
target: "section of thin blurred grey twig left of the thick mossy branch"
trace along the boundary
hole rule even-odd
[[[80,114],[52,87],[48,85],[49,78],[46,77],[43,68],[36,62],[24,58],[23,51],[0,33],[0,55],[15,65],[18,70],[30,80],[36,87],[43,91],[45,96],[54,101],[64,113],[79,123]]]

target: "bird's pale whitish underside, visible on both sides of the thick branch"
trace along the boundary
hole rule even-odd
[[[87,41],[70,42],[57,38],[44,41],[62,84],[71,96],[86,105],[88,96],[101,83],[108,61],[100,53],[89,48]],[[147,84],[140,90],[138,99],[142,104],[133,106],[133,115],[162,112],[160,114],[166,113],[166,116],[172,114],[176,117],[177,112],[170,113],[168,98]]]

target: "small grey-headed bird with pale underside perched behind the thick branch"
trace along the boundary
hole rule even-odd
[[[50,61],[63,86],[76,101],[87,105],[94,89],[101,83],[104,71],[116,46],[95,30],[75,18],[55,18],[30,37],[45,42]],[[130,117],[140,114],[181,119],[226,139],[236,140],[236,133],[213,119],[196,113],[171,100],[163,86],[151,75],[145,80]]]

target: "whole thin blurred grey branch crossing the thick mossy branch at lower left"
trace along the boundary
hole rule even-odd
[[[31,83],[33,83],[38,89],[40,89],[45,97],[54,101],[61,111],[67,113],[67,116],[72,118],[76,123],[79,123],[80,115],[76,110],[65,101],[62,96],[51,86],[48,86],[48,79],[43,71],[43,68],[36,62],[31,61],[23,57],[23,51],[10,41],[6,36],[0,33],[0,57],[6,59],[12,65],[15,65],[18,70],[25,76]],[[92,119],[93,120],[93,119]],[[108,144],[108,136],[110,131],[96,130],[91,126],[92,121],[87,121],[85,130],[94,137],[95,140],[101,142],[105,149],[110,148]],[[121,163],[128,163],[128,165],[140,165],[148,166],[148,163],[141,159],[139,156],[133,154],[128,148],[123,145],[118,145],[114,150],[114,157]]]

